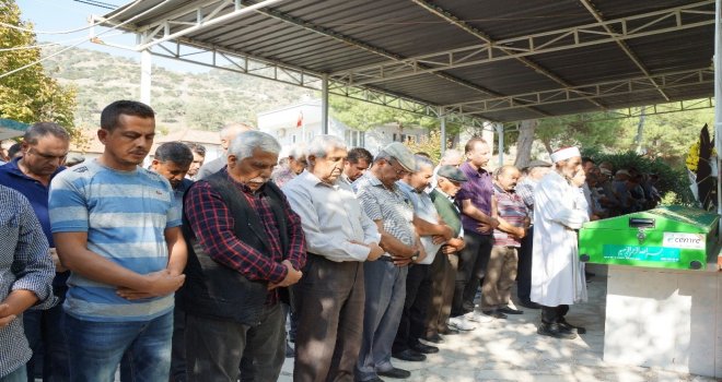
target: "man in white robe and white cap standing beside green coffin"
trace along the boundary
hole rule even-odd
[[[574,176],[582,171],[577,147],[551,154],[554,170],[534,191],[532,301],[542,306],[540,335],[573,339],[584,329],[567,322],[569,306],[586,299],[584,271],[579,261],[577,231],[590,216]]]

